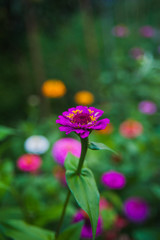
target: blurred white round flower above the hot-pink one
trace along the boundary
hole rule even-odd
[[[33,135],[26,139],[24,148],[28,153],[43,154],[49,148],[49,141],[41,135]]]

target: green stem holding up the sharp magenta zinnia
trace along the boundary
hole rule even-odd
[[[84,159],[85,159],[85,156],[86,156],[86,153],[87,153],[87,148],[88,148],[88,138],[81,138],[81,156],[80,156],[78,168],[77,168],[77,171],[76,171],[77,175],[80,175],[80,173],[81,173],[81,169],[82,169]],[[62,211],[62,215],[61,215],[58,227],[57,227],[57,232],[55,234],[55,239],[57,239],[58,236],[59,236],[60,228],[61,228],[61,225],[63,223],[63,219],[64,219],[64,216],[65,216],[65,212],[66,212],[66,208],[67,208],[67,205],[68,205],[68,202],[69,202],[70,195],[71,195],[71,192],[68,189],[68,194],[67,194],[64,206],[63,206],[63,211]]]

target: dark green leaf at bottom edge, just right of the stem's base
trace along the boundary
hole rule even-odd
[[[83,221],[75,223],[62,232],[57,240],[78,240],[80,238]]]

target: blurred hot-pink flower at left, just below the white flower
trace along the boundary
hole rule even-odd
[[[35,154],[24,154],[17,161],[18,168],[25,172],[35,172],[41,164],[41,158]]]

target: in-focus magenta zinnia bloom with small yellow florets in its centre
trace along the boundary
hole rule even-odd
[[[80,135],[81,138],[86,138],[92,130],[102,130],[106,128],[110,122],[108,118],[97,121],[102,114],[102,110],[94,107],[77,106],[68,109],[67,112],[63,112],[63,115],[59,116],[56,123],[62,125],[59,129],[60,131],[65,131],[66,134],[75,132]]]

